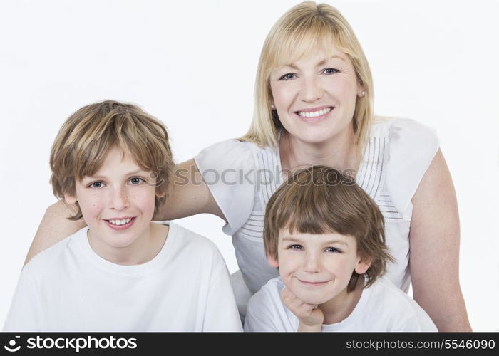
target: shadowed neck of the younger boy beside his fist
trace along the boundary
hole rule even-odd
[[[340,323],[348,318],[359,303],[363,290],[364,278],[361,277],[357,281],[355,289],[350,293],[347,293],[345,288],[339,295],[319,305],[324,313],[324,324]]]

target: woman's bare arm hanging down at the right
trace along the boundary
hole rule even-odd
[[[414,300],[439,331],[471,331],[459,285],[456,192],[440,150],[412,201],[409,264]]]

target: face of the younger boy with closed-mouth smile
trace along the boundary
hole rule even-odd
[[[284,285],[304,303],[321,305],[346,295],[354,271],[362,274],[370,266],[357,255],[356,240],[341,234],[291,234],[279,230],[276,260]]]

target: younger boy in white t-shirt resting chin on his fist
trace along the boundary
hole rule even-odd
[[[376,203],[353,179],[315,166],[267,204],[264,244],[280,277],[249,300],[247,331],[436,331],[381,276],[393,261]]]

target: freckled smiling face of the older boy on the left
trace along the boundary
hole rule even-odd
[[[113,147],[96,174],[76,181],[76,197],[65,194],[65,199],[78,201],[91,244],[96,241],[113,253],[148,236],[155,207],[155,179],[150,177],[128,153]]]

